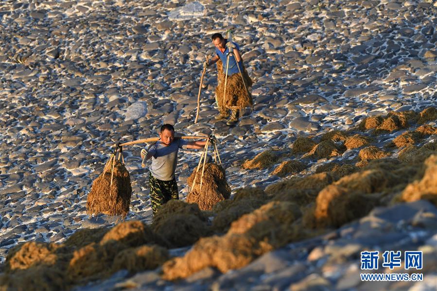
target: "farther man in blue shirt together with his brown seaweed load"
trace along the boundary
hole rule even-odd
[[[238,44],[227,41],[219,33],[212,34],[211,39],[215,46],[216,55],[209,62],[205,62],[204,66],[208,67],[219,62],[217,64],[219,84],[215,93],[220,115],[216,119],[226,118],[228,109],[231,109],[230,119],[227,121],[227,125],[230,126],[238,121],[239,109],[253,105],[252,95],[248,91],[248,88],[252,86],[252,80],[243,66],[243,58]],[[225,79],[227,79],[226,96],[223,96]]]

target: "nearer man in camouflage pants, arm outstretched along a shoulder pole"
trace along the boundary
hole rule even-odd
[[[152,159],[149,173],[150,201],[152,212],[155,215],[158,208],[170,201],[179,199],[179,192],[175,178],[177,152],[179,148],[203,149],[206,141],[186,141],[180,137],[175,138],[175,128],[171,124],[161,126],[159,140],[149,147],[141,150],[141,159]]]

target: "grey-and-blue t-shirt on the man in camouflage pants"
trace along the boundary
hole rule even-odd
[[[164,146],[161,141],[153,144],[149,148],[152,155],[150,172],[161,181],[171,181],[175,178],[177,163],[177,152],[179,148],[187,145],[188,141],[182,138],[175,138],[169,146]]]

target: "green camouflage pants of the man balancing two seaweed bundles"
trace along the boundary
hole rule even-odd
[[[149,173],[149,187],[153,215],[157,213],[159,207],[171,199],[179,199],[176,178],[171,181],[161,181]]]

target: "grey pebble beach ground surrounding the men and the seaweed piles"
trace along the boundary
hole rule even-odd
[[[398,140],[422,125],[437,127],[437,115],[421,114],[437,111],[436,23],[437,2],[427,0],[1,2],[0,263],[20,243],[63,243],[79,229],[119,223],[120,217],[87,214],[92,182],[115,142],[157,137],[164,123],[181,135],[217,137],[232,193],[274,187],[329,163],[365,166],[359,164],[367,160],[363,147],[348,146],[346,137],[332,139],[336,154],[293,152],[298,137],[316,144],[332,131],[360,134],[369,141],[363,145],[395,159],[405,145],[434,143],[437,130],[408,144]],[[210,35],[227,30],[254,81],[254,107],[243,110],[236,126],[215,120],[217,72],[211,66],[194,124],[202,64],[214,53]],[[378,134],[359,127],[393,112],[418,118]],[[124,220],[149,224],[140,150],[123,149],[133,190]],[[244,166],[268,150],[280,158],[267,167]],[[179,152],[181,200],[200,154]],[[289,160],[304,166],[272,173]],[[205,268],[178,281],[162,279],[159,268],[134,275],[121,270],[74,290],[436,290],[436,229],[432,200],[387,200],[238,270]],[[421,250],[427,254],[423,280],[361,281],[360,252],[367,249]]]

